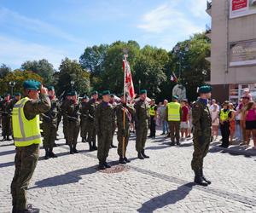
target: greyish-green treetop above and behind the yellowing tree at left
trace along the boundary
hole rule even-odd
[[[21,70],[28,70],[37,73],[44,78],[44,83],[53,83],[54,66],[48,60],[27,60],[21,65]]]

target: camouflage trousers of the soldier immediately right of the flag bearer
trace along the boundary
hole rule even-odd
[[[148,136],[148,124],[137,126],[136,129],[136,151],[141,153],[145,148],[145,144]]]

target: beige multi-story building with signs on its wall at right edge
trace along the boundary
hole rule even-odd
[[[256,100],[256,0],[212,0],[211,84],[218,101],[238,101],[249,88]]]

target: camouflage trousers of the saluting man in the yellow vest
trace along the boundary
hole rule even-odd
[[[11,183],[13,206],[16,210],[26,209],[26,190],[38,164],[39,144],[16,147],[15,176]]]

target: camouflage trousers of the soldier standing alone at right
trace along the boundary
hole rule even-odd
[[[194,139],[194,153],[193,158],[191,161],[191,168],[192,170],[198,171],[203,169],[203,159],[207,156],[210,141],[211,141],[211,134],[204,136],[203,143],[199,142],[198,135],[193,135]]]

